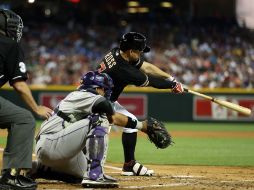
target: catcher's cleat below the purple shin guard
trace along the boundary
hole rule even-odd
[[[103,177],[92,180],[89,178],[84,178],[81,182],[81,185],[85,188],[118,188],[119,183],[116,179],[111,176],[103,175]]]

